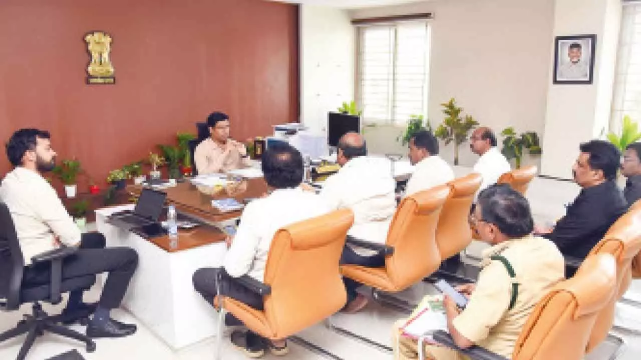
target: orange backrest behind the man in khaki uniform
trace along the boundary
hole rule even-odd
[[[559,282],[538,302],[512,359],[583,359],[597,315],[615,293],[616,276],[612,255],[585,259],[572,279]]]

